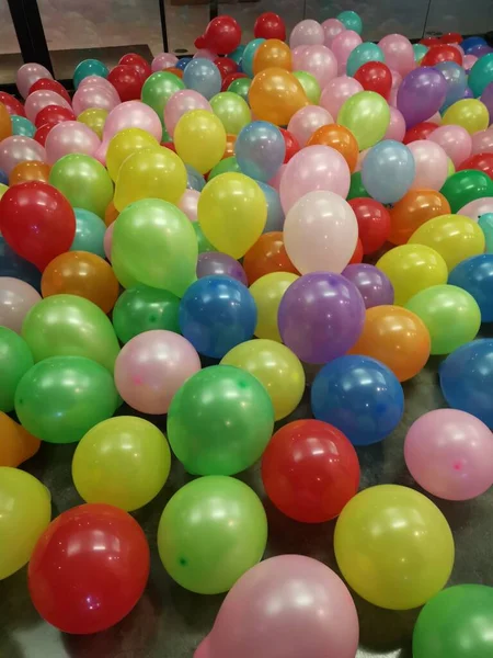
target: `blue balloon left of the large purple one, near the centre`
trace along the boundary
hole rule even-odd
[[[256,305],[249,288],[231,276],[198,279],[180,303],[180,330],[205,356],[222,359],[256,326]]]

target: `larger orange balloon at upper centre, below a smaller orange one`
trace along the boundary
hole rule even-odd
[[[282,68],[264,69],[253,78],[250,107],[256,118],[287,126],[291,116],[309,105],[301,83]]]

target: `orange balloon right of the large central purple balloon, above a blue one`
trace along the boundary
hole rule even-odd
[[[429,332],[421,318],[402,306],[374,306],[349,354],[385,363],[399,382],[417,375],[429,356]]]

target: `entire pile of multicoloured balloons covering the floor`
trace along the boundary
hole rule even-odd
[[[28,564],[60,631],[138,602],[150,548],[129,512],[173,455],[197,477],[152,549],[183,588],[229,592],[196,658],[357,651],[334,571],[257,564],[267,517],[232,476],[259,461],[280,513],[337,518],[359,597],[425,605],[414,658],[493,655],[493,590],[442,591],[442,511],[410,487],[358,492],[358,456],[400,426],[402,383],[431,355],[451,408],[409,428],[409,472],[450,501],[493,484],[493,340],[474,340],[493,321],[493,49],[362,33],[353,11],[290,35],[264,13],[241,44],[220,15],[193,57],[87,59],[73,94],[25,64],[24,101],[0,93],[0,578]],[[314,418],[298,410],[307,366]],[[84,501],[51,522],[18,468],[46,443],[77,444]]]

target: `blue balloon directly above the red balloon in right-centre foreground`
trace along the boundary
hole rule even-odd
[[[354,445],[369,445],[397,428],[404,412],[404,393],[392,371],[376,359],[340,356],[314,378],[311,409]]]

